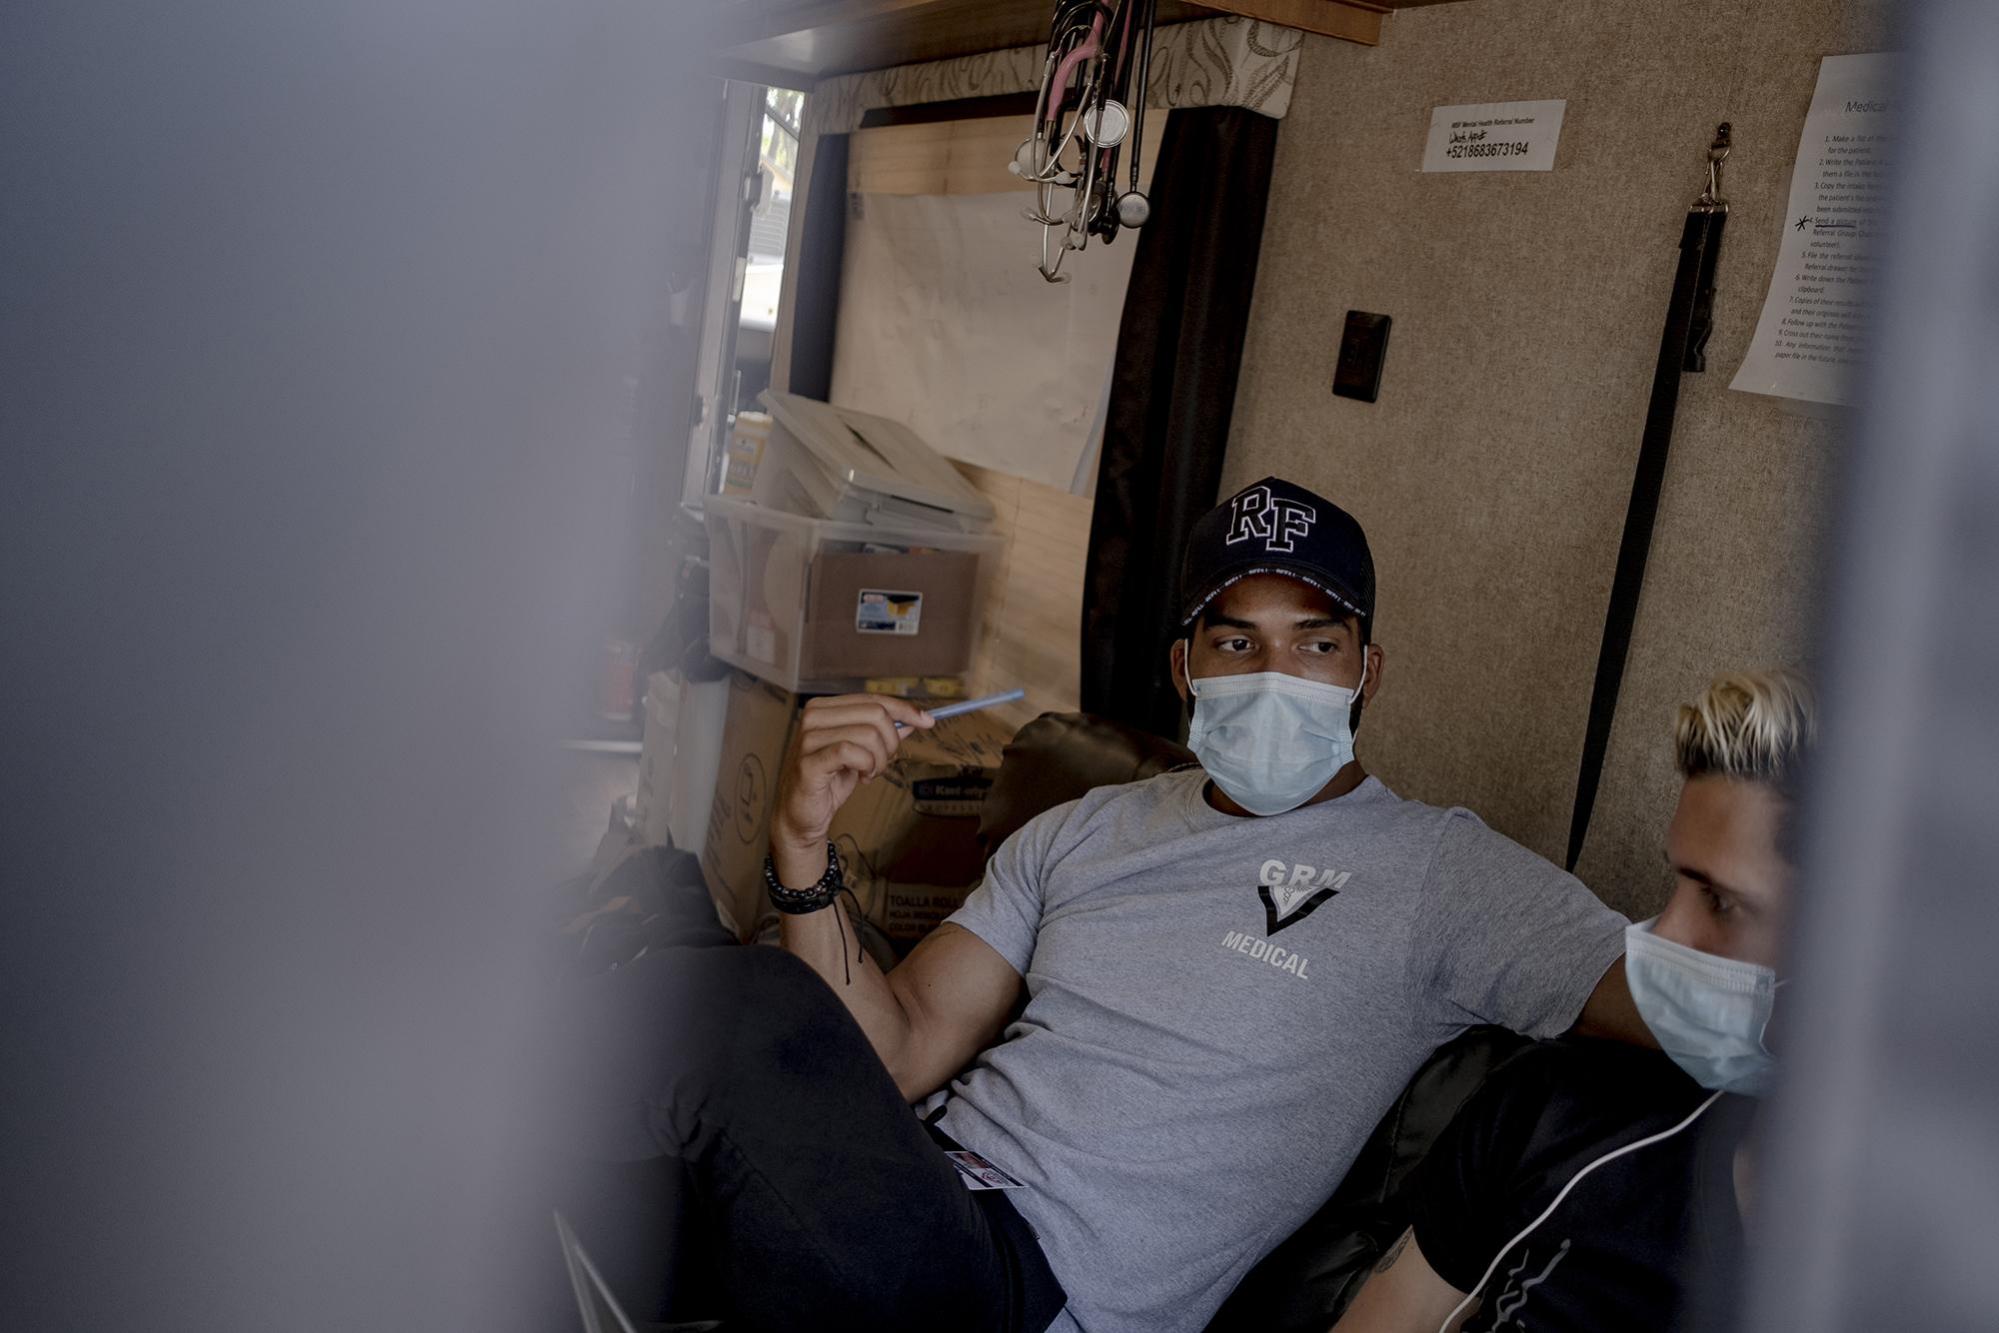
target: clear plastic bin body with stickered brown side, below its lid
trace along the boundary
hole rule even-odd
[[[842,524],[706,500],[708,646],[802,693],[962,675],[1003,538]]]

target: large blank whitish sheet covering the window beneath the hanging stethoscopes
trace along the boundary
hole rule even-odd
[[[1117,346],[1137,234],[1033,268],[1033,194],[858,194],[832,400],[950,458],[1069,490]]]

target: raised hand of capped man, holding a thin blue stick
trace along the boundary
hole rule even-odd
[[[770,821],[778,883],[806,889],[826,873],[826,831],[858,785],[888,771],[902,745],[898,721],[926,731],[934,725],[930,713],[886,693],[842,693],[806,703]]]

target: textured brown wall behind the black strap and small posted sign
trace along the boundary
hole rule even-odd
[[[1307,38],[1277,140],[1223,490],[1303,482],[1365,524],[1385,687],[1361,755],[1561,859],[1685,208],[1735,126],[1709,370],[1687,376],[1581,873],[1669,885],[1673,705],[1799,664],[1835,428],[1727,390],[1769,284],[1819,56],[1879,0],[1469,0],[1379,48]],[[1553,172],[1421,174],[1429,108],[1567,98]],[[1393,316],[1377,404],[1333,398],[1345,310]],[[1887,646],[1873,646],[1887,662]]]

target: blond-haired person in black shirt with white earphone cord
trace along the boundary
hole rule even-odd
[[[1787,669],[1721,675],[1681,705],[1675,887],[1625,951],[1661,1049],[1563,1037],[1493,1073],[1425,1159],[1413,1225],[1335,1333],[1663,1333],[1695,1273],[1727,1281],[1813,711]]]

